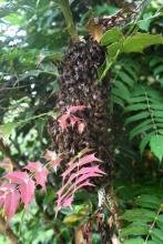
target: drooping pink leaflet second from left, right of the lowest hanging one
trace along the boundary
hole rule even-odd
[[[20,184],[19,190],[21,193],[21,200],[24,203],[24,207],[28,209],[29,203],[33,200],[34,197],[34,181],[32,179],[29,179],[26,181],[26,183]]]

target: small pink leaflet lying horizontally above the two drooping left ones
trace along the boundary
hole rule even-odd
[[[14,171],[6,175],[7,179],[11,180],[13,183],[21,184],[29,180],[27,172]]]

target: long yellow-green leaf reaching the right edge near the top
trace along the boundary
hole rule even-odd
[[[123,52],[142,52],[145,48],[153,44],[163,44],[161,34],[149,34],[137,32],[135,35],[129,37],[123,42]]]

